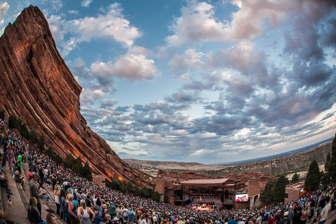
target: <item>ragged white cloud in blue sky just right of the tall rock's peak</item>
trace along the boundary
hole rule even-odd
[[[141,36],[136,27],[129,25],[129,21],[121,13],[119,3],[111,4],[106,15],[97,17],[85,17],[66,21],[59,15],[51,15],[47,20],[57,45],[66,56],[81,42],[90,42],[97,38],[113,38],[121,42],[124,47],[130,47],[134,39]],[[65,34],[72,34],[70,40],[64,40]]]

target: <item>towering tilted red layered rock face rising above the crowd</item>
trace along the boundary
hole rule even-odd
[[[46,146],[65,158],[70,152],[87,160],[93,173],[108,180],[118,177],[124,183],[148,186],[112,151],[110,146],[87,127],[80,113],[82,87],[76,82],[56,49],[49,25],[36,6],[25,8],[0,38],[0,110],[5,120],[16,115],[44,133]],[[142,173],[144,176],[148,176]]]

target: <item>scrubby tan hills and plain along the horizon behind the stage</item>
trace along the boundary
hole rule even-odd
[[[184,162],[169,162],[169,161],[142,161],[135,159],[124,159],[125,162],[131,162],[135,164],[140,164],[148,167],[156,167],[158,169],[163,169],[167,172],[175,171],[182,172],[185,170],[199,173],[205,176],[220,177],[223,175],[235,173],[237,175],[241,173],[259,173],[259,174],[268,174],[268,175],[277,175],[288,171],[304,171],[308,170],[310,163],[315,159],[319,165],[322,165],[326,162],[326,156],[329,151],[331,151],[333,138],[326,139],[324,141],[318,142],[316,144],[292,150],[285,153],[284,157],[269,159],[269,160],[260,160],[257,162],[245,162],[241,161],[239,164],[224,164],[224,165],[206,165],[199,163],[184,163]],[[325,144],[325,142],[328,142]],[[316,145],[318,147],[316,147]],[[312,149],[313,148],[313,149]],[[308,150],[308,151],[307,151]],[[297,154],[296,152],[301,152]],[[281,155],[280,153],[277,155]],[[291,155],[292,154],[292,155]],[[259,158],[260,159],[260,158]],[[130,165],[132,166],[132,164]],[[172,164],[172,166],[170,166]],[[187,168],[188,165],[193,167],[196,166],[196,169]],[[162,168],[161,168],[162,167]],[[167,167],[167,168],[164,168]],[[175,168],[176,167],[176,168]],[[177,168],[182,167],[182,168]],[[203,167],[203,169],[202,169]],[[141,170],[141,169],[140,169]],[[149,172],[152,175],[155,171]]]

